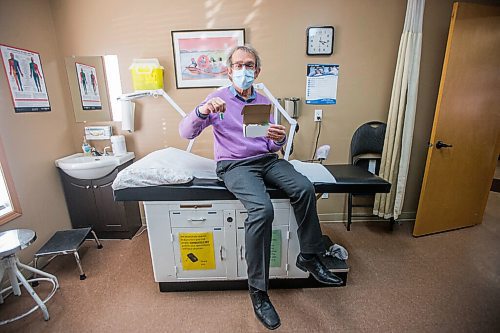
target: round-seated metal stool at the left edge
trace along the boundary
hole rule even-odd
[[[30,313],[34,312],[37,308],[40,308],[40,310],[42,310],[43,318],[45,320],[49,320],[50,318],[49,311],[47,310],[45,303],[55,294],[56,290],[59,288],[59,282],[57,281],[57,278],[52,274],[45,273],[44,271],[21,263],[16,255],[17,252],[30,246],[35,241],[35,239],[36,234],[33,230],[17,229],[0,232],[0,282],[2,281],[5,273],[7,273],[10,280],[10,287],[7,287],[0,291],[0,304],[4,302],[3,293],[6,291],[12,290],[14,295],[20,296],[21,284],[24,286],[24,288],[26,288],[30,296],[35,300],[37,304],[22,315],[19,315],[12,319],[0,321],[0,325],[4,325],[26,317]],[[36,278],[35,275],[34,278],[26,280],[20,269],[24,269],[25,271],[44,276],[44,278]],[[40,299],[40,297],[38,297],[33,288],[31,288],[30,286],[30,282],[32,283],[38,281],[48,281],[52,283],[52,291],[43,301]]]

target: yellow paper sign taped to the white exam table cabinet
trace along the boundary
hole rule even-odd
[[[179,233],[182,269],[215,269],[214,236],[212,232]]]

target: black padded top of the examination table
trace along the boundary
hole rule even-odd
[[[350,164],[325,165],[336,183],[314,183],[316,193],[388,193],[391,184],[365,169]],[[287,199],[284,192],[268,188],[273,199]],[[186,184],[130,187],[114,191],[116,201],[236,200],[224,183],[195,178]]]

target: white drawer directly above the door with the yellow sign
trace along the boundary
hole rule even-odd
[[[170,212],[172,227],[222,227],[223,212],[210,209],[174,210]]]

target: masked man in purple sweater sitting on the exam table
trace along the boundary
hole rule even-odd
[[[251,46],[238,46],[228,54],[227,67],[232,85],[208,95],[182,120],[179,133],[183,138],[192,139],[209,125],[213,127],[217,175],[248,211],[245,258],[253,308],[265,327],[276,329],[281,324],[280,318],[267,294],[274,212],[266,184],[280,188],[290,197],[301,251],[297,267],[325,284],[337,286],[342,280],[317,257],[324,248],[313,185],[275,154],[286,142],[285,127],[271,124],[266,137],[243,135],[243,107],[271,104],[252,87],[261,69],[259,55]]]

